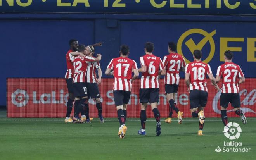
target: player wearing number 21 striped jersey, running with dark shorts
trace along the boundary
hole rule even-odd
[[[185,71],[186,62],[182,55],[176,53],[177,46],[173,42],[168,43],[169,55],[164,56],[163,64],[166,69],[166,76],[164,77],[165,93],[167,101],[169,102],[169,116],[166,123],[171,123],[173,110],[178,115],[178,124],[182,124],[183,112],[180,112],[176,102],[174,101],[175,95],[177,95],[179,82],[180,82],[180,69]],[[161,77],[161,76],[159,76]]]

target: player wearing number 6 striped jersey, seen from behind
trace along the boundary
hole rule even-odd
[[[151,105],[151,109],[154,112],[154,117],[156,118],[156,136],[161,134],[161,122],[160,113],[157,108],[157,103],[159,101],[159,83],[158,75],[166,75],[163,62],[161,58],[152,54],[154,51],[154,44],[147,42],[145,44],[145,55],[140,57],[141,68],[138,69],[142,72],[142,77],[140,80],[140,124],[141,129],[138,134],[145,135],[145,124],[147,121],[146,108],[147,103]]]

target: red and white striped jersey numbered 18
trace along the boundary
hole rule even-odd
[[[190,74],[190,91],[194,89],[208,91],[206,87],[206,74],[212,73],[209,64],[202,61],[190,62],[186,65],[185,73]]]

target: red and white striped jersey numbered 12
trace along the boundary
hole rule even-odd
[[[95,59],[93,57],[86,56],[85,58],[80,55],[74,58],[74,78],[73,83],[76,82],[85,82],[85,76],[88,64],[93,62]]]

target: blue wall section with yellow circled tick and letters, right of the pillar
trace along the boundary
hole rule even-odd
[[[144,55],[144,44],[155,44],[154,54],[163,58],[168,54],[168,42],[177,44],[177,52],[186,62],[193,61],[193,51],[202,50],[202,60],[209,63],[213,74],[224,62],[224,52],[234,53],[233,62],[240,65],[245,77],[255,77],[256,70],[255,23],[225,22],[122,22],[121,44],[131,47],[130,58],[139,63]],[[184,74],[181,74],[184,77]]]

